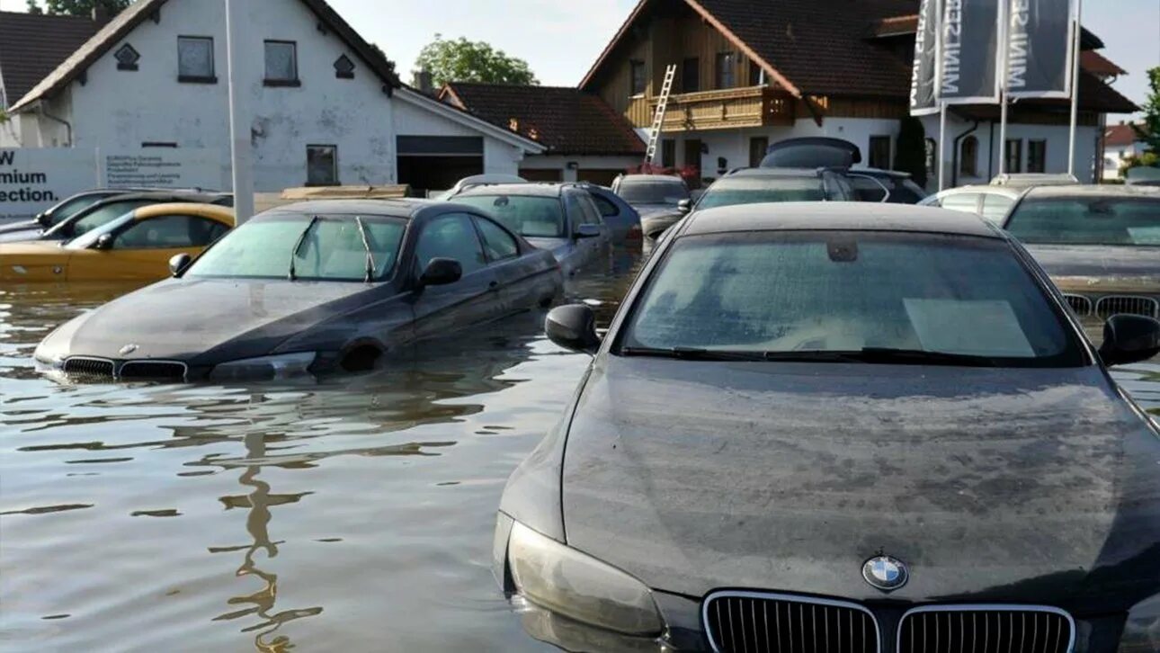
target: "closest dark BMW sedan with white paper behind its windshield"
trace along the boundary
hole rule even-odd
[[[974,216],[687,218],[508,481],[494,568],[580,651],[1160,648],[1160,433],[1022,247]]]

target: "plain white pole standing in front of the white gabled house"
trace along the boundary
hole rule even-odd
[[[234,219],[241,225],[254,216],[254,176],[249,158],[249,113],[246,110],[245,66],[239,70],[248,0],[225,0],[225,57],[230,86],[230,164],[233,169]],[[240,59],[239,59],[240,57]]]

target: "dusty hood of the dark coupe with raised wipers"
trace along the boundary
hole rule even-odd
[[[261,356],[333,317],[333,303],[365,290],[356,283],[168,280],[81,315],[49,338],[66,342],[46,341],[42,349],[190,364]],[[126,344],[137,349],[121,354]]]

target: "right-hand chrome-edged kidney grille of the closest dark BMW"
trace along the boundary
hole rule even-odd
[[[948,605],[902,616],[898,653],[1070,653],[1071,616],[1054,608]]]

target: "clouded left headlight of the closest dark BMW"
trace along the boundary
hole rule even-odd
[[[524,597],[553,612],[625,634],[660,634],[664,627],[643,582],[519,522],[508,564]]]

